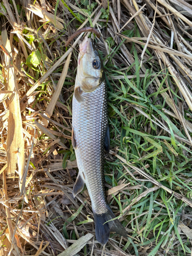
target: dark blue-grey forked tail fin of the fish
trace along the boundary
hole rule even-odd
[[[108,211],[105,212],[105,214],[96,214],[94,212],[95,234],[96,234],[96,239],[99,243],[104,245],[106,244],[106,242],[108,242],[110,237],[110,231],[116,232],[120,236],[127,237],[127,232],[119,220],[116,219],[116,220],[110,221],[114,218],[116,218],[116,216],[114,215],[110,206],[108,208]]]

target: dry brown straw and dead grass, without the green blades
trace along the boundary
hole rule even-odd
[[[88,26],[91,20],[92,25],[101,32],[104,41],[112,36],[115,44],[120,45],[120,54],[114,53],[114,50],[110,49],[106,42],[103,44],[102,40],[99,40],[99,50],[103,52],[103,57],[108,56],[105,63],[110,60],[122,71],[127,70],[136,61],[132,51],[133,44],[137,49],[139,63],[145,63],[150,57],[148,53],[153,56],[152,73],[158,71],[157,66],[163,72],[152,76],[153,86],[151,84],[148,87],[147,93],[149,95],[157,92],[161,87],[162,79],[168,73],[172,84],[170,85],[165,79],[167,90],[160,89],[159,92],[160,97],[165,100],[164,114],[173,118],[179,130],[184,131],[184,137],[174,133],[175,138],[191,151],[191,116],[186,118],[183,114],[184,110],[188,113],[192,111],[191,2],[183,0],[112,1],[109,3],[109,19],[101,18],[100,10],[102,5],[108,9],[108,3],[106,1],[100,3],[98,0],[96,2],[98,6],[90,16],[78,7],[77,2],[67,3],[75,15],[80,13],[86,17],[81,24],[62,1],[37,0],[34,4],[33,1],[27,0],[16,2],[3,0],[4,7],[0,12],[0,30],[2,31],[0,36],[0,256],[72,256],[86,255],[88,252],[95,256],[133,255],[132,244],[127,249],[124,248],[129,240],[118,236],[113,236],[103,250],[102,246],[94,240],[94,222],[88,191],[84,190],[76,199],[72,196],[77,163],[72,158],[74,151],[71,145],[71,99],[77,68],[77,44],[82,34],[71,42],[71,47],[68,49],[64,44],[77,27]],[[182,13],[176,2],[182,6]],[[58,7],[55,15],[56,4]],[[104,28],[100,22],[103,22]],[[122,34],[124,30],[132,30],[136,27],[141,37],[138,35],[128,37]],[[165,31],[169,34],[166,35]],[[30,41],[30,38],[33,40]],[[146,49],[148,52],[145,51]],[[37,58],[36,66],[27,66],[26,61],[32,52],[37,55],[39,52],[40,59]],[[111,55],[113,55],[112,58]],[[135,78],[135,71],[136,68],[133,65],[127,77]],[[146,67],[142,65],[139,72],[140,79],[144,78]],[[118,81],[124,79],[124,76],[112,74],[108,78]],[[170,89],[182,99],[178,105]],[[152,100],[153,97],[154,95],[151,97]],[[157,102],[161,104],[160,101]],[[160,116],[156,118],[146,114],[144,107],[139,103],[126,103],[126,108],[132,108],[138,116],[143,115],[147,120],[151,120],[158,129],[161,129],[160,134],[168,134],[169,137],[173,135],[173,131]],[[121,114],[126,115],[123,111]],[[129,120],[131,118],[132,116]],[[143,127],[140,127],[139,130],[142,129]],[[150,133],[151,130],[147,131]],[[170,146],[166,140],[163,143],[173,155],[177,156],[178,153],[173,145]],[[156,155],[162,152],[160,145]],[[192,201],[186,191],[183,194],[183,191],[162,185],[158,181],[158,175],[154,178],[147,173],[147,168],[150,166],[148,163],[144,167],[136,166],[138,161],[144,163],[146,159],[151,158],[151,153],[147,152],[140,156],[139,160],[129,163],[126,156],[120,153],[118,145],[112,146],[106,160],[113,163],[118,159],[119,166],[123,166],[123,172],[130,175],[132,182],[122,177],[114,187],[107,184],[109,189],[106,195],[109,202],[112,202],[115,214],[119,216],[121,213],[120,220],[126,221],[130,237],[135,244],[139,244],[137,246],[139,255],[148,255],[156,244],[154,242],[147,246],[141,245],[142,239],[141,241],[139,239],[142,229],[139,230],[138,225],[136,231],[133,231],[131,223],[138,216],[136,212],[129,212],[131,207],[142,198],[151,195],[150,193],[155,193],[159,188],[189,208],[192,207]],[[71,158],[68,157],[67,161],[63,161],[67,156]],[[113,176],[113,168],[110,172],[107,175]],[[134,185],[135,180],[139,179],[143,183]],[[146,190],[139,195],[135,194],[130,205],[125,206],[120,212],[114,197],[118,199],[121,194],[121,199],[131,198],[135,189],[144,187],[145,181],[155,186],[145,186]],[[162,201],[159,202],[164,206]],[[147,210],[149,211],[148,208]],[[159,214],[160,211],[153,218],[158,218]],[[133,217],[128,220],[129,215]],[[83,223],[77,225],[79,222]],[[181,229],[190,239],[190,230],[186,231],[185,225],[181,226]],[[137,236],[134,232],[137,232]],[[147,239],[152,238],[152,233]],[[185,241],[183,237],[182,239]],[[168,246],[166,246],[166,253],[170,249]],[[164,249],[161,248],[154,255],[163,255],[162,253]],[[170,252],[169,255],[174,254]]]

